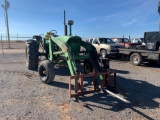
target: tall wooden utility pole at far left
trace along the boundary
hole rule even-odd
[[[9,34],[9,25],[8,25],[8,8],[10,6],[10,3],[7,0],[4,0],[4,5],[2,5],[2,7],[4,8],[5,11],[5,24],[7,27],[7,38],[8,38],[8,48],[10,47],[10,34]]]

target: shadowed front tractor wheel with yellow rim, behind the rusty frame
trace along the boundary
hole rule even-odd
[[[90,60],[85,60],[84,61],[84,73],[91,73],[93,72],[93,65],[92,62]]]

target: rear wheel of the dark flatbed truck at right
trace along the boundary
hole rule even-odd
[[[142,59],[142,56],[139,54],[139,53],[133,53],[130,57],[130,62],[133,64],[133,65],[141,65],[143,59]]]

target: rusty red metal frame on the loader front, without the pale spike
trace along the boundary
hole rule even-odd
[[[110,75],[113,74],[114,75],[114,80],[113,80],[113,85],[111,85],[111,79],[110,79]],[[116,88],[116,71],[115,70],[107,70],[106,72],[92,72],[90,74],[79,74],[79,75],[73,75],[73,76],[69,76],[69,97],[76,97],[78,95],[84,95],[84,86],[83,86],[83,80],[84,78],[88,78],[88,77],[92,77],[93,78],[93,91],[98,91],[98,82],[96,77],[97,76],[102,76],[103,80],[102,80],[102,87],[103,88]],[[71,80],[75,80],[75,93],[71,93]]]

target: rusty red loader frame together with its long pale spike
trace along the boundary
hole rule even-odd
[[[113,82],[111,83],[111,74],[113,74]],[[98,81],[96,79],[97,76],[102,77],[102,84],[99,85]],[[69,97],[78,97],[79,95],[84,95],[84,86],[83,86],[83,80],[84,78],[88,78],[88,77],[92,77],[93,78],[93,92],[100,90],[105,91],[106,93],[110,94],[111,96],[125,102],[125,103],[130,103],[128,100],[126,100],[125,98],[115,94],[114,92],[110,91],[110,89],[116,89],[116,71],[115,70],[111,70],[111,69],[107,69],[106,72],[93,72],[90,74],[79,74],[79,75],[73,75],[73,76],[69,76]],[[71,80],[75,80],[75,87],[74,93],[71,93]],[[90,91],[90,92],[92,92]]]

